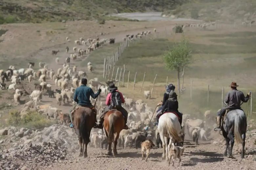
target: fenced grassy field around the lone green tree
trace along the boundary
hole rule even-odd
[[[216,32],[215,32],[216,33]],[[186,34],[185,34],[186,36]],[[187,34],[187,37],[190,37]],[[221,108],[222,87],[224,95],[229,90],[228,85],[232,81],[240,84],[245,94],[255,91],[255,66],[256,66],[256,32],[237,32],[226,34],[201,34],[190,37],[190,47],[193,55],[193,63],[185,70],[184,87],[186,90],[179,96],[180,110],[184,113],[192,112],[194,115],[202,115],[205,110],[213,110],[214,113]],[[209,43],[197,43],[199,39],[207,39]],[[245,41],[249,39],[249,41]],[[243,43],[240,43],[243,40]],[[157,84],[153,93],[153,99],[146,100],[152,107],[162,98],[166,76],[168,82],[177,86],[177,72],[166,70],[163,63],[163,53],[172,48],[177,38],[155,39],[142,41],[136,46],[124,50],[116,68],[126,66],[125,87],[119,87],[128,97],[144,98],[143,90],[151,90],[152,83],[157,76]],[[226,45],[219,45],[225,43]],[[113,54],[116,46],[106,46],[94,52],[87,61],[95,62],[99,70],[103,70],[103,59]],[[82,63],[85,65],[86,63]],[[97,69],[98,70],[98,69]],[[130,85],[127,88],[128,71]],[[135,72],[137,72],[136,89],[132,90]],[[141,93],[138,93],[144,72],[146,72],[145,84]],[[116,69],[115,69],[116,73]],[[102,72],[95,72],[94,76],[102,77]],[[115,75],[115,74],[114,74]],[[251,77],[252,76],[252,77]],[[114,76],[115,77],[115,76]],[[190,99],[190,83],[193,79],[192,101]],[[102,78],[103,80],[103,78]],[[209,104],[207,102],[207,86],[210,85]],[[242,105],[247,113],[248,104]],[[253,110],[256,110],[256,101],[253,100]]]

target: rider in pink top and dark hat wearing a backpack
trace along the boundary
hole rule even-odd
[[[107,98],[106,98],[107,107],[105,107],[101,113],[102,115],[100,117],[98,128],[100,129],[103,128],[105,114],[111,109],[117,109],[124,116],[124,124],[125,124],[124,129],[128,129],[128,126],[126,125],[128,112],[122,107],[122,103],[125,102],[123,95],[121,92],[118,91],[117,87],[113,83],[109,84],[109,90],[110,90],[110,93],[107,95]]]

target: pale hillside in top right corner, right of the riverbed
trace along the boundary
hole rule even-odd
[[[255,0],[188,0],[163,15],[204,21],[248,22],[256,20]]]

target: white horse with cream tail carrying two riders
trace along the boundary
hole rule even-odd
[[[173,113],[163,114],[159,119],[158,130],[163,144],[162,158],[164,159],[165,157],[165,159],[168,161],[169,150],[172,143],[175,141],[182,141],[181,137],[179,136],[179,133],[181,132],[181,124],[179,123],[178,117]],[[170,138],[169,144],[168,138]]]

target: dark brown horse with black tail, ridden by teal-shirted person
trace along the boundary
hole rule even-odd
[[[90,134],[95,121],[96,116],[92,109],[87,107],[79,107],[77,110],[75,110],[74,127],[80,145],[80,157],[83,156],[83,151],[84,158],[87,157],[87,145],[90,142]]]

